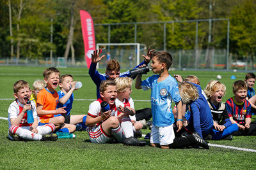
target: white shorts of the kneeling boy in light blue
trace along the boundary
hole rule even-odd
[[[159,145],[170,145],[173,143],[175,134],[173,124],[166,127],[157,127],[152,125],[150,134],[150,143],[159,143]]]

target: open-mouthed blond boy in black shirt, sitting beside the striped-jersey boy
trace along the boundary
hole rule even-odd
[[[221,102],[225,93],[226,87],[220,81],[211,80],[205,88],[214,121],[212,132],[205,138],[206,140],[232,140],[232,133],[238,131],[238,126],[232,124],[228,117],[225,103]]]

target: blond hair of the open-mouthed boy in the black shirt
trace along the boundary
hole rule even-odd
[[[205,95],[207,96],[207,98],[210,99],[214,95],[214,93],[221,88],[224,90],[223,96],[225,96],[225,94],[226,94],[225,85],[223,83],[221,83],[220,81],[211,80],[205,87],[204,92],[205,92]]]

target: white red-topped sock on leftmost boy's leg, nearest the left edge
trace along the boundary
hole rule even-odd
[[[33,140],[33,141],[39,141],[40,139],[42,139],[41,134],[36,134],[27,129],[22,129],[21,127],[19,127],[17,125],[12,125],[10,127],[9,131],[12,134],[17,134],[22,139],[28,139],[28,140]]]

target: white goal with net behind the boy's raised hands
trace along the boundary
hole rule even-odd
[[[147,52],[147,46],[140,43],[97,43],[97,48],[102,49],[102,54],[111,55],[111,59],[118,60],[123,67],[134,67],[140,64],[140,53]],[[133,57],[134,56],[134,57]]]

